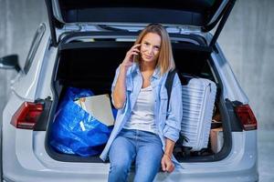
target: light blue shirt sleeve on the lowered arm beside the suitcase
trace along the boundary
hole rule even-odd
[[[167,118],[163,127],[163,136],[176,142],[180,136],[183,118],[182,85],[179,76],[174,76],[173,88],[167,110]]]

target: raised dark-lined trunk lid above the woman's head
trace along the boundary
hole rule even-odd
[[[45,0],[53,45],[58,45],[56,31],[64,25],[163,25],[195,26],[209,32],[218,22],[216,37],[225,25],[236,0],[172,0],[147,2],[143,0],[89,1]],[[217,31],[218,30],[218,31]],[[216,37],[214,38],[216,42]],[[209,45],[215,45],[215,42]]]

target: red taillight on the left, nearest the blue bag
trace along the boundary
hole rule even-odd
[[[12,117],[11,124],[16,128],[33,129],[43,109],[42,104],[25,102]]]

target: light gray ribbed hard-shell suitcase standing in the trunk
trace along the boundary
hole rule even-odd
[[[172,72],[170,72],[172,73]],[[173,82],[172,74],[166,80],[168,96]],[[180,76],[181,77],[181,76]],[[183,120],[181,128],[182,146],[191,151],[206,148],[216,99],[216,84],[205,78],[184,76],[183,91]],[[169,102],[169,101],[168,101]]]

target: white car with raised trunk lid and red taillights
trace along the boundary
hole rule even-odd
[[[217,86],[208,147],[176,154],[184,169],[159,171],[155,181],[258,181],[257,120],[216,43],[235,0],[46,4],[49,24],[39,25],[24,68],[16,56],[0,59],[1,68],[18,71],[2,116],[2,181],[107,181],[109,162],[60,153],[48,134],[68,86],[111,94],[115,69],[149,23],[166,27],[180,72]]]

